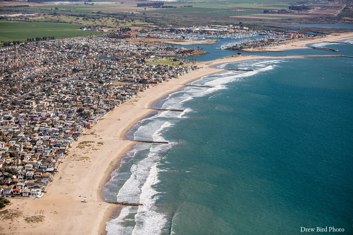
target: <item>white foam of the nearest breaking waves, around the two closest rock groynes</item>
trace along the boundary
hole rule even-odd
[[[154,141],[166,141],[161,136],[162,131],[173,124],[164,122],[160,128],[154,131],[152,139]],[[146,126],[149,126],[146,125]],[[151,144],[149,154],[131,166],[130,178],[120,188],[118,202],[140,202],[145,206],[125,207],[119,217],[107,223],[107,231],[112,234],[159,234],[166,219],[164,215],[154,211],[154,203],[157,197],[153,185],[158,183],[157,162],[161,159],[162,153],[170,149],[174,143],[169,144]],[[129,215],[135,214],[135,218],[129,218]],[[134,228],[126,227],[126,222],[135,222]]]

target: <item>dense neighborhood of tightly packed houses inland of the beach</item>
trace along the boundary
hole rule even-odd
[[[99,46],[98,46],[99,45]],[[179,50],[80,37],[0,55],[0,193],[42,197],[69,148],[109,111],[196,66],[151,64]],[[50,188],[49,188],[50,190]]]

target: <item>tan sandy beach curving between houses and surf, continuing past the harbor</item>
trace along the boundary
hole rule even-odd
[[[321,37],[314,40],[336,41],[349,37],[352,38],[353,33],[341,33],[340,36]],[[314,41],[291,42],[287,46],[301,48],[300,45],[309,42]],[[299,46],[296,47],[295,44]],[[166,94],[183,87],[180,84],[187,84],[202,76],[225,71],[212,68],[216,64],[260,58],[278,57],[241,55],[200,62],[198,63],[200,69],[140,92],[136,97],[116,107],[93,128],[87,129],[85,135],[73,144],[69,149],[70,154],[60,164],[53,182],[50,183],[47,193],[42,198],[11,199],[12,204],[5,209],[18,211],[19,217],[14,221],[1,221],[0,234],[105,234],[106,222],[110,220],[110,215],[117,207],[103,202],[102,188],[120,159],[136,144],[126,140],[126,132],[138,120],[153,111],[146,108],[151,107],[156,100]],[[121,120],[118,120],[119,118]],[[83,197],[79,195],[84,195],[88,202],[81,202]],[[39,213],[40,211],[43,212]],[[119,209],[114,214],[118,212]],[[45,222],[32,224],[25,222],[25,217],[34,215],[45,216]]]

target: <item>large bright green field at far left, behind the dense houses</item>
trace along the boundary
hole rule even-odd
[[[104,32],[82,31],[85,25],[0,20],[0,41],[26,41],[27,38],[87,36]]]

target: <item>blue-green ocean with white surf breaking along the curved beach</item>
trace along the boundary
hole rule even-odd
[[[352,58],[219,67],[254,71],[204,76],[191,84],[213,88],[154,104],[184,112],[152,113],[128,132],[169,144],[137,144],[112,173],[104,198],[145,205],[123,207],[108,235],[353,234]]]

